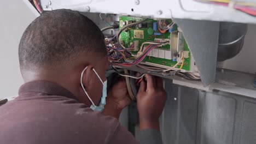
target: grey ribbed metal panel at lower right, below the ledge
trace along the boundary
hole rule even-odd
[[[256,99],[200,91],[170,80],[165,80],[165,89],[167,101],[160,121],[164,143],[255,143]]]

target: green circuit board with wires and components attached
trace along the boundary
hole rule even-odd
[[[128,21],[134,21],[138,22],[143,20],[141,17],[130,17],[130,16],[120,16],[119,17],[119,28],[124,26],[124,22]],[[171,22],[172,20],[166,20],[168,22]],[[149,34],[148,29],[153,28],[153,22],[157,22],[156,20],[153,19],[148,19],[144,23],[147,23],[147,27],[130,27],[126,29],[126,31],[123,31],[120,34],[120,40],[123,41],[123,44],[125,47],[129,47],[132,43],[134,43],[135,40],[139,40],[139,47],[144,43],[145,41],[154,41],[155,38],[161,38],[161,39],[170,39],[171,38],[171,33],[166,32],[162,35],[155,35],[155,34]],[[177,25],[173,26],[173,31],[177,31]],[[183,42],[184,42],[184,51],[189,51],[189,57],[184,59],[184,65],[183,68],[184,70],[189,71],[190,70],[190,50],[188,48],[187,43],[185,42],[184,38],[182,37]],[[158,47],[159,50],[170,50],[171,46],[170,44],[163,45],[161,47]],[[137,51],[133,51],[133,53],[136,53]],[[177,63],[177,61],[173,61],[172,59],[165,59],[165,58],[159,58],[159,57],[153,57],[153,56],[146,56],[144,58],[143,62],[149,62],[149,63],[154,63],[154,64],[160,64],[160,65],[165,65],[168,67],[173,67]],[[180,65],[177,66],[179,68]]]

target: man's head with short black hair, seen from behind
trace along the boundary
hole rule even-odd
[[[83,83],[95,104],[101,97],[107,68],[104,35],[90,19],[77,11],[54,10],[34,20],[22,35],[19,61],[25,82],[46,80],[59,83],[80,101],[90,105],[80,86]]]

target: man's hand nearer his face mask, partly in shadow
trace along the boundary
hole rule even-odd
[[[124,107],[131,103],[124,79],[120,78],[117,82],[115,82],[108,93],[106,102],[107,104],[104,106],[102,113],[118,119]]]

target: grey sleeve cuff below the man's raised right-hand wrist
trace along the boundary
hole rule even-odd
[[[162,144],[160,131],[155,129],[146,129],[139,132],[137,137],[140,144]]]

